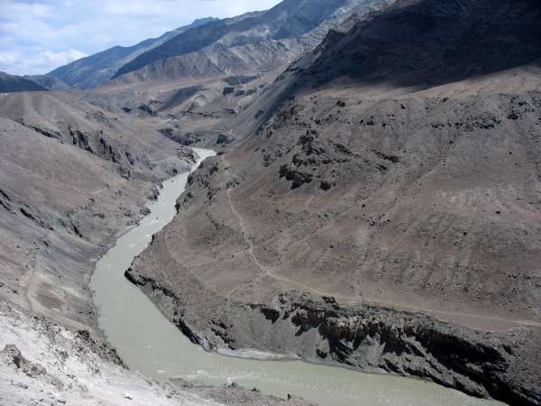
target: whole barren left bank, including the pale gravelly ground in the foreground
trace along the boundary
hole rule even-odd
[[[102,341],[94,263],[191,150],[74,93],[3,95],[0,124],[0,403],[306,404],[151,383]]]

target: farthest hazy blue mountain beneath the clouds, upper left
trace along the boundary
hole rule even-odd
[[[190,28],[205,25],[216,20],[212,17],[198,19],[190,25],[166,32],[159,38],[145,40],[131,47],[115,46],[109,50],[54,69],[48,75],[59,78],[74,88],[94,88],[112,78],[118,69],[142,53],[158,47],[164,42],[168,42],[180,32],[185,32]]]

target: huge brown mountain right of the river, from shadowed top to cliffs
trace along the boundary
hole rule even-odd
[[[536,0],[352,16],[219,124],[236,143],[126,276],[207,348],[540,404],[539,21]]]

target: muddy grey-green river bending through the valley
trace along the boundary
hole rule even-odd
[[[214,155],[208,150],[196,149],[196,152],[200,161]],[[179,377],[216,386],[235,382],[282,398],[291,393],[329,406],[500,404],[414,379],[362,374],[301,361],[261,361],[210,354],[192,344],[142,291],[124,279],[124,271],[133,258],[174,217],[175,202],[187,180],[188,173],[184,173],[165,181],[160,198],[150,206],[151,214],[122,235],[96,263],[91,288],[99,309],[99,326],[132,370],[159,381]]]

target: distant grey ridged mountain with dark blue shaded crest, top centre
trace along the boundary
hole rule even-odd
[[[114,78],[167,79],[277,69],[316,46],[355,8],[362,14],[386,0],[286,0],[182,32],[126,63]],[[127,75],[126,74],[131,74]]]

